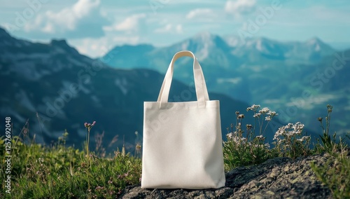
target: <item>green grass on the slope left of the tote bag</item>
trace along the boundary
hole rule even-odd
[[[11,191],[5,193],[5,158],[1,158],[0,198],[116,198],[123,188],[139,184],[141,159],[122,151],[113,158],[99,158],[86,151],[64,146],[23,144],[26,137],[13,137],[11,151]],[[0,141],[1,157],[5,147]]]

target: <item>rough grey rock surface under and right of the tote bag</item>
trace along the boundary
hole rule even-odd
[[[318,181],[310,163],[324,165],[328,155],[274,158],[261,165],[237,167],[226,173],[225,187],[219,189],[142,189],[129,186],[120,198],[332,198]]]

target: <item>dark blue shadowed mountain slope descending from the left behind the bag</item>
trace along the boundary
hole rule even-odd
[[[163,78],[151,69],[109,67],[80,55],[64,40],[32,43],[0,29],[0,116],[11,118],[13,135],[35,135],[36,142],[57,142],[66,130],[66,144],[83,146],[87,133],[83,124],[96,121],[92,147],[99,138],[94,136],[104,133],[107,151],[123,144],[134,149],[142,142],[143,104],[157,100]],[[221,101],[225,136],[226,128],[236,121],[235,111],[243,112],[249,105],[216,92],[209,96]],[[174,80],[169,101],[183,100],[195,100],[195,92]],[[0,128],[5,127],[0,124]]]

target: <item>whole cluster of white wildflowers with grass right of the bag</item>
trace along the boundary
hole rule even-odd
[[[279,114],[267,107],[253,104],[246,111],[253,112],[254,125],[246,124],[242,127],[244,114],[236,111],[236,125],[228,128],[227,142],[224,142],[225,168],[230,170],[233,167],[254,165],[262,163],[268,158],[287,156],[296,158],[309,154],[310,136],[304,135],[304,125],[300,122],[288,123],[276,132],[267,131],[267,126],[272,119]],[[274,148],[265,143],[267,135],[273,136]]]

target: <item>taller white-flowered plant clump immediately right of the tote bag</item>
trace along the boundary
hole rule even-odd
[[[278,114],[270,111],[267,107],[260,109],[260,105],[255,104],[246,110],[253,111],[255,124],[246,124],[246,130],[242,130],[241,123],[245,116],[240,114],[239,111],[236,112],[236,125],[231,124],[231,127],[228,128],[228,135],[226,135],[228,141],[224,142],[223,145],[225,170],[260,164],[270,158],[270,146],[265,144],[263,135],[269,122]],[[264,125],[265,121],[267,123]],[[259,130],[258,136],[255,135],[256,128]]]

